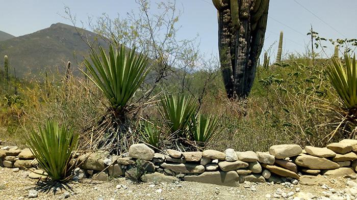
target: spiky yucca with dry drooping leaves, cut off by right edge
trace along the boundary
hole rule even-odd
[[[357,129],[357,67],[355,55],[351,59],[346,52],[344,64],[339,58],[333,56],[331,63],[327,65],[326,72],[331,85],[333,85],[341,100],[340,105],[326,104],[327,110],[335,113],[335,119],[338,120],[336,129],[326,137],[330,136],[330,140],[342,129],[342,132],[348,133],[348,135],[344,134],[344,137],[355,138],[355,129]]]

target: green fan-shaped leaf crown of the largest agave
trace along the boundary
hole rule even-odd
[[[82,72],[103,92],[112,109],[122,114],[149,71],[145,71],[147,60],[145,55],[136,53],[135,48],[127,50],[121,45],[114,50],[110,45],[107,55],[99,46],[99,53],[91,50],[91,62],[84,60],[89,73]]]

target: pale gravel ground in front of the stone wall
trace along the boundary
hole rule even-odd
[[[27,199],[29,190],[37,181],[24,177],[24,171],[12,172],[10,168],[0,167],[0,199]],[[108,182],[93,182],[90,179],[81,180],[79,183],[71,183],[69,186],[73,191],[66,192],[60,190],[57,194],[53,192],[38,193],[34,199],[62,199],[67,193],[67,199],[90,199],[90,200],[111,200],[111,199],[269,199],[267,195],[273,195],[277,191],[285,193],[294,192],[293,196],[301,193],[312,193],[316,196],[323,196],[323,192],[334,188],[335,191],[344,190],[347,179],[330,179],[330,184],[326,186],[305,186],[285,185],[270,183],[260,183],[251,185],[241,184],[239,187],[226,187],[212,184],[202,184],[194,182],[176,183],[140,183],[136,184],[124,178],[114,179]],[[356,182],[356,181],[354,181]],[[327,187],[327,188],[326,188]],[[299,192],[296,192],[300,188]],[[281,189],[281,190],[279,190]],[[332,192],[331,192],[332,193]],[[293,198],[293,197],[290,197]],[[276,198],[275,198],[276,199]]]

